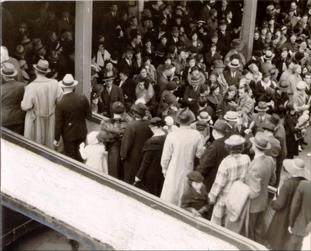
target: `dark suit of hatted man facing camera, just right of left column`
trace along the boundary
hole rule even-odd
[[[104,86],[104,90],[100,94],[100,96],[103,101],[103,107],[101,112],[106,112],[106,116],[108,117],[111,117],[112,115],[111,103],[113,103],[114,101],[120,101],[124,104],[122,89],[115,84],[111,86],[110,94],[108,94],[107,86]]]

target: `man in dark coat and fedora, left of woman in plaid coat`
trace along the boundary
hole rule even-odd
[[[213,128],[212,135],[215,140],[205,149],[200,158],[200,164],[197,167],[197,171],[204,177],[203,183],[207,188],[207,192],[211,190],[215,181],[220,162],[228,155],[228,152],[225,150],[224,138],[227,122],[219,119],[211,127]]]

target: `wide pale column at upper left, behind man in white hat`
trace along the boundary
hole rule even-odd
[[[92,1],[76,1],[75,80],[77,93],[91,98]]]

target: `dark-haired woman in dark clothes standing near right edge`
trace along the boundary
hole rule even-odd
[[[285,119],[287,158],[293,159],[294,156],[298,156],[299,138],[306,130],[297,126],[299,117],[297,105],[294,102],[288,102],[286,110],[288,112]]]

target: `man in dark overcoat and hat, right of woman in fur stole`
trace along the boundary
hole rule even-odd
[[[146,140],[152,136],[149,127],[150,121],[147,120],[148,108],[146,105],[138,103],[133,105],[131,110],[135,120],[131,121],[125,129],[120,152],[121,158],[124,160],[123,181],[128,184],[134,183],[135,175],[142,162],[142,148]]]

